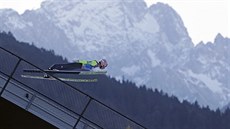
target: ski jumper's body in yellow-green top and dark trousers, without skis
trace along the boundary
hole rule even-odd
[[[77,60],[73,63],[67,63],[67,64],[54,64],[51,67],[49,67],[49,70],[84,70],[84,71],[90,71],[93,68],[100,68],[105,69],[108,66],[108,63],[105,59],[102,59],[100,61],[92,60]]]

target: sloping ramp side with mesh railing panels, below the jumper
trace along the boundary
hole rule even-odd
[[[58,78],[55,81],[23,78],[23,69],[28,68],[40,69],[0,47],[0,95],[57,128],[146,129]]]

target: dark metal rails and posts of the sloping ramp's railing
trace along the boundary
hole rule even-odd
[[[117,110],[112,109],[111,107],[107,106],[107,105],[104,104],[103,102],[101,102],[101,101],[95,99],[94,97],[92,97],[92,96],[90,96],[90,95],[84,93],[83,91],[79,90],[78,88],[76,88],[76,87],[70,85],[69,83],[66,83],[66,82],[60,80],[59,78],[57,78],[57,77],[55,77],[55,76],[53,76],[53,75],[50,75],[50,76],[52,76],[53,78],[55,78],[57,81],[63,83],[65,86],[67,86],[67,87],[69,87],[70,89],[72,89],[73,91],[78,92],[78,93],[81,93],[82,95],[84,95],[84,96],[87,98],[87,102],[86,102],[85,106],[83,107],[83,110],[82,110],[81,113],[78,113],[78,112],[76,112],[76,111],[74,111],[74,110],[72,110],[72,109],[69,109],[66,105],[63,105],[62,103],[58,102],[57,100],[54,100],[53,98],[50,98],[50,97],[47,96],[46,94],[43,94],[43,93],[41,93],[41,92],[36,91],[35,89],[31,88],[31,87],[28,86],[27,84],[24,84],[24,83],[21,82],[20,80],[18,80],[18,79],[16,79],[16,78],[13,77],[14,74],[15,74],[15,71],[18,69],[19,64],[20,64],[22,61],[25,62],[25,63],[27,63],[27,64],[29,64],[29,65],[31,65],[31,66],[33,66],[34,68],[39,69],[39,70],[41,70],[42,72],[46,73],[43,69],[41,69],[41,68],[39,68],[38,66],[36,66],[36,65],[34,65],[34,64],[32,64],[32,63],[30,63],[29,61],[26,61],[25,59],[19,57],[18,55],[14,54],[14,53],[12,53],[12,52],[10,52],[9,50],[6,50],[5,48],[0,47],[0,52],[1,52],[1,51],[2,51],[2,52],[6,52],[7,54],[12,55],[13,57],[17,58],[18,60],[17,60],[17,63],[15,64],[15,66],[12,68],[13,70],[12,70],[12,72],[11,72],[10,74],[7,74],[7,73],[3,72],[3,71],[1,70],[1,66],[0,66],[0,74],[1,74],[1,75],[4,75],[4,76],[7,78],[7,79],[6,79],[6,82],[5,82],[5,84],[4,84],[4,86],[2,87],[2,89],[0,89],[0,90],[1,90],[1,91],[0,91],[0,96],[2,97],[2,94],[3,94],[3,92],[6,90],[8,84],[10,83],[10,81],[15,81],[15,82],[17,82],[18,84],[23,85],[23,87],[26,87],[26,89],[29,89],[30,91],[33,92],[33,95],[32,95],[32,97],[31,97],[30,101],[28,102],[28,105],[26,106],[25,110],[28,110],[29,106],[31,105],[31,103],[32,103],[32,101],[35,99],[35,97],[37,97],[37,96],[42,96],[42,98],[45,98],[45,99],[49,100],[50,102],[55,103],[56,105],[58,105],[58,106],[61,107],[62,109],[65,109],[65,110],[67,110],[68,112],[71,112],[71,113],[73,113],[73,114],[75,114],[75,115],[78,116],[78,118],[76,119],[76,122],[75,122],[74,126],[72,126],[73,129],[77,128],[77,125],[78,125],[80,122],[82,122],[82,123],[85,124],[87,127],[90,127],[90,128],[92,128],[92,129],[95,129],[95,128],[96,128],[96,129],[98,129],[98,128],[100,128],[100,129],[106,129],[107,127],[104,126],[103,124],[97,123],[97,122],[95,122],[94,120],[90,120],[89,118],[87,118],[87,117],[85,116],[85,112],[86,112],[87,110],[89,110],[89,106],[90,106],[90,105],[93,105],[93,103],[94,103],[94,104],[96,103],[97,106],[102,107],[102,108],[105,108],[110,114],[116,115],[116,117],[117,117],[117,118],[120,118],[120,120],[127,121],[127,123],[130,124],[130,126],[128,126],[129,128],[131,128],[131,129],[147,129],[146,127],[144,127],[144,126],[141,125],[140,123],[137,123],[136,121],[134,121],[134,120],[128,118],[127,116],[121,114],[121,113],[118,112]],[[0,55],[0,57],[1,57],[1,55]],[[47,73],[47,74],[49,74],[49,73]],[[28,98],[28,96],[29,96],[29,95],[26,95],[27,98]],[[101,110],[105,110],[105,109],[101,109]],[[46,112],[46,113],[49,114],[49,112]],[[52,114],[50,114],[50,115],[52,115]],[[62,118],[59,118],[59,119],[61,120]],[[85,122],[85,121],[87,121],[87,122]],[[118,121],[119,121],[119,120],[118,120]],[[63,121],[63,122],[65,122],[65,121]],[[108,124],[109,124],[109,123],[108,123]],[[117,123],[117,124],[119,125],[119,123]],[[91,126],[91,125],[93,125],[93,126]],[[105,125],[106,125],[106,124],[105,124]],[[85,126],[85,127],[86,127],[86,126]],[[123,127],[123,126],[122,126],[122,127]]]

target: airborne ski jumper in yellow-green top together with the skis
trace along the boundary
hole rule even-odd
[[[25,78],[34,78],[34,79],[46,79],[50,78],[50,75],[53,74],[105,74],[106,71],[91,71],[94,68],[100,68],[105,69],[108,66],[108,63],[105,59],[102,59],[100,61],[92,60],[77,60],[73,63],[66,63],[66,64],[54,64],[51,67],[48,68],[48,70],[42,70],[41,69],[24,69],[24,72],[29,73],[44,73],[43,77],[41,76],[33,76],[33,75],[21,75]],[[51,77],[52,79],[52,77]],[[79,82],[79,79],[74,78],[60,78],[63,81],[74,81]],[[85,79],[87,80],[87,79]],[[90,80],[88,80],[90,81]]]

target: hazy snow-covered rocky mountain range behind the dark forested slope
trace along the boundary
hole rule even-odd
[[[230,39],[194,46],[169,5],[143,0],[47,0],[19,15],[0,10],[0,30],[73,59],[109,61],[109,74],[198,100],[211,108],[230,100]]]

